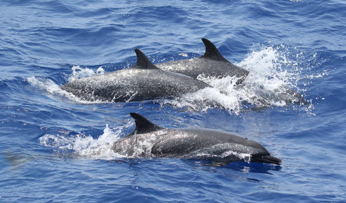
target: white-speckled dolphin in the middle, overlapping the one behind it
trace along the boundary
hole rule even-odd
[[[136,65],[102,75],[73,80],[61,87],[87,101],[128,102],[172,98],[210,85],[154,66],[139,49]]]

